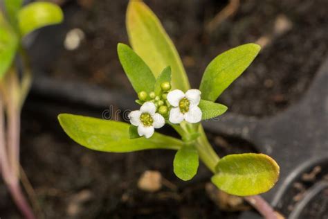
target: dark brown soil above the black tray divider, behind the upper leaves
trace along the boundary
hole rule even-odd
[[[230,112],[267,116],[299,100],[321,60],[327,55],[325,0],[242,1],[235,15],[206,33],[205,26],[225,1],[146,1],[163,22],[181,54],[192,87],[216,55],[260,37],[271,35],[283,15],[292,28],[271,40],[248,70],[219,98]],[[127,1],[100,1],[76,12],[71,28],[81,28],[86,40],[76,51],[66,51],[53,62],[52,76],[87,80],[109,89],[133,94],[116,54],[118,42],[127,42]]]

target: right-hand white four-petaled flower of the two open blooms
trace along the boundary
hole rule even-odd
[[[169,117],[171,123],[181,123],[183,119],[189,123],[201,121],[202,112],[198,107],[201,91],[198,89],[190,89],[185,94],[183,91],[175,89],[167,94],[167,100],[173,106]]]

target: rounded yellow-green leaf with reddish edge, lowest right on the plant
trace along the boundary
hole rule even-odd
[[[279,166],[263,154],[228,155],[219,160],[212,182],[232,195],[247,196],[265,193],[279,177]]]

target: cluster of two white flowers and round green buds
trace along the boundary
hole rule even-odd
[[[129,114],[130,123],[138,126],[138,134],[146,138],[152,137],[155,128],[162,128],[165,119],[170,123],[179,124],[182,121],[199,123],[202,112],[198,107],[201,100],[201,91],[190,89],[183,93],[179,89],[170,91],[170,82],[161,84],[161,95],[156,96],[154,91],[147,94],[138,93],[139,103],[143,103],[140,110]]]

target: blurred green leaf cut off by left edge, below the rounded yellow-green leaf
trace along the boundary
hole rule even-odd
[[[0,79],[12,64],[18,46],[18,37],[0,11]]]

